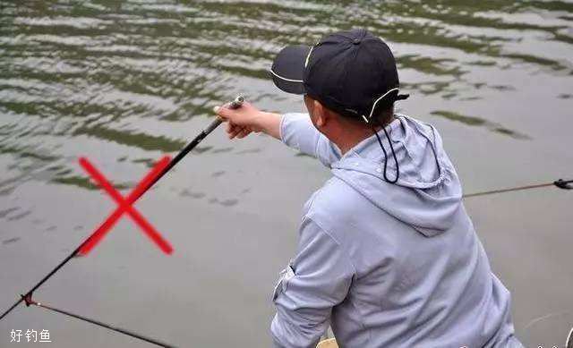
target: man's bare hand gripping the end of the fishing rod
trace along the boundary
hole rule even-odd
[[[213,111],[227,122],[227,135],[229,139],[243,139],[252,132],[261,132],[257,119],[261,116],[261,110],[252,106],[251,103],[244,102],[236,109],[224,106],[215,106]]]

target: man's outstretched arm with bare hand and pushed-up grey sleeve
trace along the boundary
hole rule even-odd
[[[238,109],[221,106],[215,112],[227,121],[229,139],[264,132],[291,148],[317,157],[324,166],[330,166],[341,157],[340,150],[312,125],[307,114],[267,113],[247,102]]]

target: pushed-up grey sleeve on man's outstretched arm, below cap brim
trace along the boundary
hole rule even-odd
[[[280,121],[280,139],[289,147],[318,158],[324,166],[340,159],[340,150],[312,125],[308,114],[285,114]]]

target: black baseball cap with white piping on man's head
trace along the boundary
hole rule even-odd
[[[285,47],[270,73],[278,89],[306,94],[338,114],[366,123],[377,106],[408,98],[399,94],[390,48],[363,29],[327,35],[312,47]]]

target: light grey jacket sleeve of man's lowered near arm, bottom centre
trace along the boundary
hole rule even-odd
[[[274,346],[314,348],[329,327],[332,308],[346,298],[354,275],[355,267],[338,242],[305,217],[297,255],[273,294]]]

